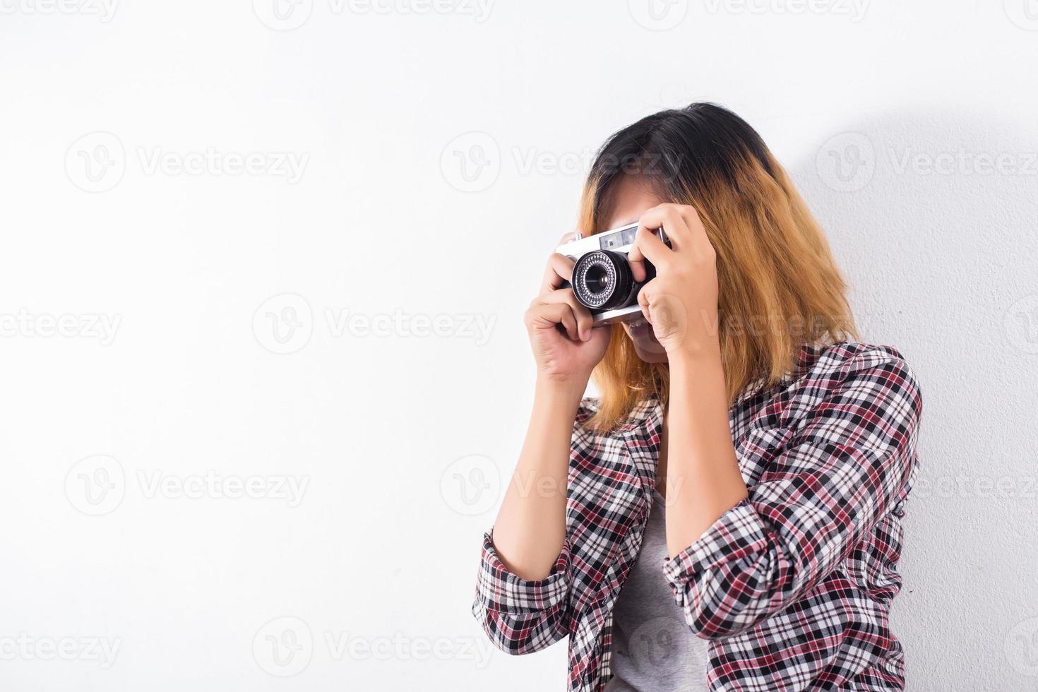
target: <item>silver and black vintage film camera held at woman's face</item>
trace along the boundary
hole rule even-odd
[[[641,316],[638,292],[656,276],[656,269],[647,259],[645,281],[635,281],[631,274],[627,255],[634,246],[637,230],[638,224],[632,223],[555,248],[555,252],[573,260],[569,285],[577,302],[591,311],[595,325]],[[659,240],[671,245],[662,228],[655,232]]]

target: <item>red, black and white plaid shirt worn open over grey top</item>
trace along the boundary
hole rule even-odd
[[[710,690],[902,690],[887,625],[921,399],[890,347],[804,345],[777,386],[748,388],[730,424],[749,497],[662,573],[709,640]],[[527,654],[569,636],[569,690],[609,680],[612,607],[641,545],[662,433],[650,398],[608,433],[574,425],[567,537],[547,578],[520,579],[483,542],[472,606],[490,639]]]

